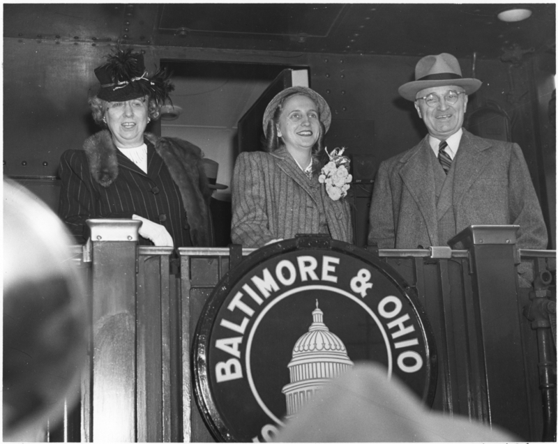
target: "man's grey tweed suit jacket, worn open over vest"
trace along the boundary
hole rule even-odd
[[[369,245],[439,245],[431,150],[427,136],[380,165],[370,205]],[[518,144],[482,139],[464,129],[453,162],[457,233],[472,224],[518,224],[519,248],[546,248],[541,207]]]

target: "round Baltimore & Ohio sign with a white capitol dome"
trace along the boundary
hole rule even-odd
[[[193,344],[221,441],[271,441],[331,378],[372,360],[430,404],[435,346],[414,292],[373,254],[316,237],[250,254],[216,286]]]

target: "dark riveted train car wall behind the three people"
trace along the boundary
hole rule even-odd
[[[4,38],[3,43],[4,174],[26,177],[28,182],[29,178],[43,178],[43,183],[38,183],[33,190],[44,195],[46,201],[57,201],[56,181],[44,179],[56,176],[63,151],[80,148],[84,139],[98,130],[89,115],[87,98],[98,88],[93,69],[114,44],[40,38]],[[346,145],[348,153],[373,156],[376,167],[382,160],[411,148],[425,135],[412,102],[397,93],[398,86],[413,78],[419,58],[416,56],[149,45],[135,46],[135,49],[145,52],[146,66],[158,64],[161,59],[308,66],[310,86],[329,102],[334,123],[370,122],[373,137],[352,138]],[[493,100],[504,109],[516,112],[518,121],[512,126],[512,138],[521,144],[536,189],[541,193],[545,181],[539,180],[539,172],[552,176],[555,167],[554,171],[543,169],[538,154],[541,128],[536,121],[536,82],[539,79],[534,77],[534,62],[529,57],[525,56],[522,68],[513,71],[513,79],[508,63],[499,60],[478,60],[476,73],[484,82],[483,100]],[[469,76],[471,60],[461,59],[460,63],[463,74]],[[506,102],[508,95],[517,95],[522,90],[525,96]],[[473,95],[469,106],[474,106],[475,100]],[[232,164],[220,166],[229,170],[232,167]],[[544,194],[545,190],[542,191]],[[547,214],[555,213],[555,202],[543,199],[541,204]]]

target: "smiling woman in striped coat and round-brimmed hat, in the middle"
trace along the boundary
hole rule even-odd
[[[329,234],[352,242],[346,199],[333,200],[318,180],[326,163],[331,112],[310,88],[276,95],[264,113],[266,151],[241,153],[232,182],[234,243],[262,247],[296,234]]]

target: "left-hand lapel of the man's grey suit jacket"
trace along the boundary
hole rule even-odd
[[[409,151],[401,158],[400,162],[405,165],[400,169],[399,175],[423,216],[430,238],[437,239],[436,190],[430,160],[431,149],[427,136],[416,150]]]

